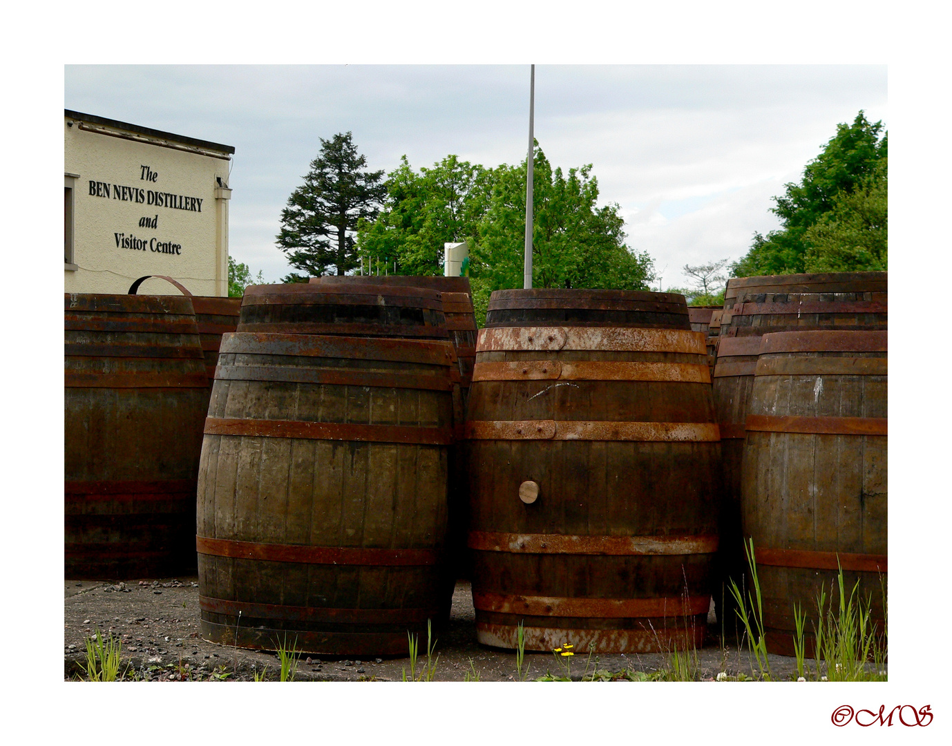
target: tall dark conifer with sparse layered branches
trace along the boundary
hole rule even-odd
[[[304,185],[281,212],[278,247],[307,276],[346,274],[358,265],[354,235],[358,221],[374,220],[386,195],[384,171],[368,171],[352,134],[321,138],[321,152],[310,164]],[[331,270],[332,271],[328,271]],[[292,272],[286,282],[298,282]]]

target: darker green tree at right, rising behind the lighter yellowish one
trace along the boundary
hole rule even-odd
[[[846,195],[863,187],[887,157],[887,136],[883,133],[881,138],[881,133],[883,123],[870,124],[863,111],[852,125],[838,125],[823,152],[803,169],[801,182],[785,185],[785,194],[774,198],[776,206],[770,211],[781,219],[783,228],[766,236],[755,233],[750,250],[732,266],[731,274],[744,277],[807,271],[807,254],[818,235],[809,233],[810,228],[838,204],[843,220]]]

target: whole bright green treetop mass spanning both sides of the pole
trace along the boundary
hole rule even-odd
[[[534,287],[649,289],[654,265],[625,245],[619,206],[598,206],[591,164],[552,168],[536,147],[533,177]],[[492,290],[523,286],[526,161],[486,168],[447,156],[416,173],[407,163],[387,178],[387,202],[359,227],[368,261],[398,274],[442,274],[443,245],[466,241],[477,318]],[[394,262],[396,265],[394,265]]]

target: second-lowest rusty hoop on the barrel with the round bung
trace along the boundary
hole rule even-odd
[[[496,614],[527,617],[684,617],[706,614],[709,596],[656,599],[577,599],[551,596],[513,596],[473,590],[473,607]]]

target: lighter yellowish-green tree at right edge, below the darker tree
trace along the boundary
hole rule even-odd
[[[856,190],[838,194],[833,209],[806,230],[807,272],[885,270],[887,160]]]

